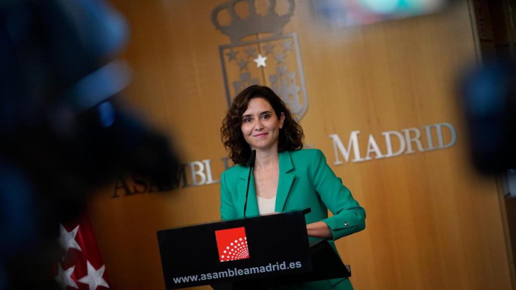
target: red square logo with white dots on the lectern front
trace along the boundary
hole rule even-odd
[[[249,259],[246,228],[215,231],[215,237],[217,238],[220,262]]]

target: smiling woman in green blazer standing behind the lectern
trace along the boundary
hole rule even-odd
[[[251,86],[240,92],[222,122],[224,146],[235,166],[224,171],[220,185],[222,219],[244,217],[251,150],[256,150],[254,179],[246,216],[303,210],[308,235],[333,240],[365,228],[365,211],[326,164],[317,149],[303,147],[303,130],[271,89]],[[328,208],[333,216],[328,218]],[[347,278],[293,285],[300,289],[352,289]]]

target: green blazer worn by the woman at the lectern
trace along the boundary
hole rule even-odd
[[[307,223],[324,221],[333,240],[365,228],[365,210],[353,199],[342,180],[326,163],[318,149],[279,153],[280,176],[276,194],[276,212],[304,210]],[[220,180],[220,215],[222,219],[244,217],[248,166],[236,165],[224,171]],[[328,217],[328,209],[333,213]],[[254,179],[249,184],[246,216],[258,215]],[[335,249],[333,240],[330,244]],[[335,249],[336,250],[336,249]],[[331,279],[293,285],[295,289],[352,289],[349,279]]]

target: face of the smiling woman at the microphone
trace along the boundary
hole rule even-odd
[[[280,119],[276,112],[263,98],[254,98],[249,101],[247,110],[242,114],[240,128],[244,139],[251,149],[268,150],[278,149],[278,136],[283,127],[285,115],[281,112]]]

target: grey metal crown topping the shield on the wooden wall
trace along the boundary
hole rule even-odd
[[[245,2],[249,9],[249,15],[245,19],[240,18],[235,12],[235,5],[239,2]],[[228,35],[231,42],[234,43],[253,34],[271,33],[272,35],[280,35],[283,26],[292,17],[295,8],[294,0],[288,0],[288,12],[283,15],[278,15],[275,12],[276,0],[269,0],[269,7],[265,15],[256,13],[255,2],[256,0],[231,0],[217,6],[212,12],[212,22],[215,28]],[[220,25],[217,20],[218,14],[223,10],[227,10],[231,15],[231,23],[227,26]]]

